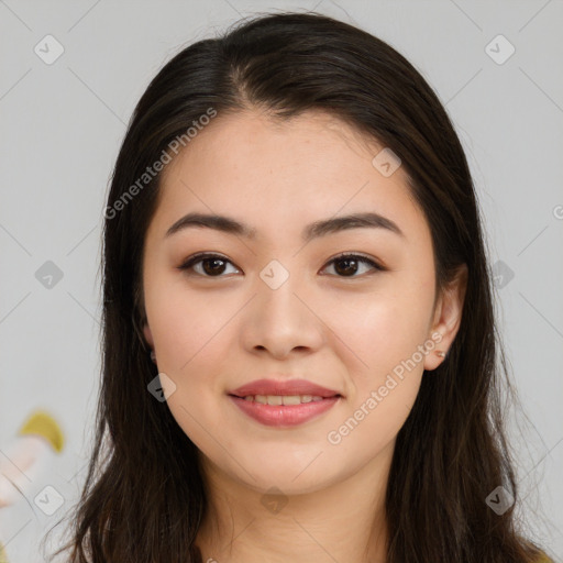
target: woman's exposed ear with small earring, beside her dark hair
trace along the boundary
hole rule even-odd
[[[435,349],[424,357],[424,369],[435,369],[443,362],[443,358],[437,355],[437,351],[441,350],[448,353],[450,350],[462,322],[466,289],[467,265],[462,264],[457,268],[452,282],[450,282],[438,298],[429,339],[432,334],[440,333],[441,340],[438,338],[432,339],[437,344]]]

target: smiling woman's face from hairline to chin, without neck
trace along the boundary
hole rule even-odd
[[[313,492],[375,463],[453,339],[429,227],[402,168],[372,163],[382,148],[321,112],[286,123],[247,112],[219,115],[164,172],[144,334],[206,467],[255,490]],[[201,223],[167,235],[188,213],[250,235]],[[361,213],[378,225],[308,230]],[[258,379],[273,387],[236,391]],[[283,386],[295,379],[306,383]]]

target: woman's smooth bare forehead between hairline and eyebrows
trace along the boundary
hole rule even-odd
[[[157,214],[168,223],[188,211],[236,216],[261,231],[375,211],[407,236],[428,230],[405,170],[386,177],[374,165],[384,148],[320,111],[288,121],[254,111],[218,115],[164,169]]]

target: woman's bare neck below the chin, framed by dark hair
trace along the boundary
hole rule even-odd
[[[287,496],[257,492],[205,460],[209,506],[197,537],[202,561],[385,563],[394,445],[343,481]]]

